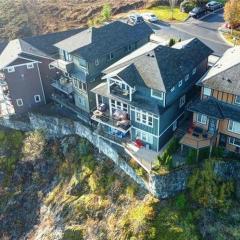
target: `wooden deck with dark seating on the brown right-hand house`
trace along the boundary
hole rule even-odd
[[[208,133],[202,128],[195,127],[188,130],[188,132],[180,140],[180,144],[199,150],[212,146],[214,144],[214,140],[215,135]]]

